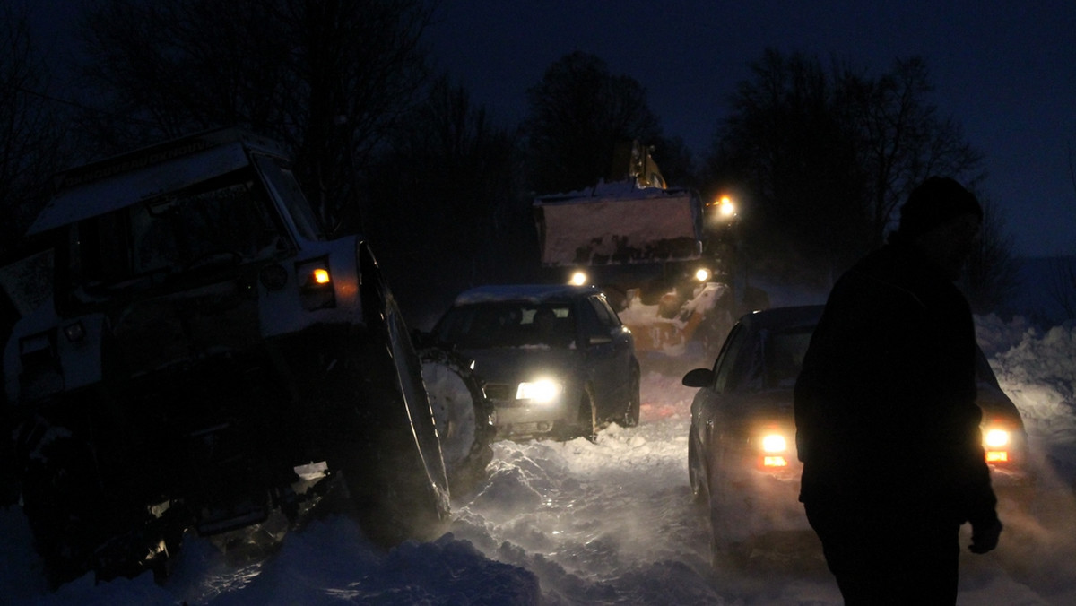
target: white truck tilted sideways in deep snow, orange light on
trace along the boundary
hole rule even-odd
[[[12,327],[6,412],[54,584],[167,573],[184,533],[295,519],[327,483],[376,542],[440,533],[399,309],[275,144],[221,129],[69,170],[30,231],[53,236],[55,277]]]

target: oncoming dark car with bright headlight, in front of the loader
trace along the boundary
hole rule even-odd
[[[639,422],[634,340],[593,286],[498,285],[461,293],[434,342],[475,361],[499,437],[593,438]]]

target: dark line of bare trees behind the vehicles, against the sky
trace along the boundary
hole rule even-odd
[[[918,181],[952,175],[988,208],[966,283],[977,311],[1013,287],[982,156],[938,115],[916,57],[872,73],[767,51],[696,166],[663,132],[646,88],[584,53],[566,54],[528,89],[521,124],[498,125],[452,74],[430,69],[423,33],[439,8],[427,1],[87,3],[63,88],[58,67],[37,59],[27,5],[8,1],[0,15],[0,253],[19,244],[51,173],[240,126],[292,151],[332,230],[374,242],[419,325],[461,288],[534,279],[535,193],[593,185],[632,140],[652,145],[670,184],[734,193],[740,258],[789,280],[840,271],[883,240]]]

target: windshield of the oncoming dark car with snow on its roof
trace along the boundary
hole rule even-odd
[[[483,302],[452,308],[436,334],[465,349],[567,348],[575,339],[575,320],[569,301]]]

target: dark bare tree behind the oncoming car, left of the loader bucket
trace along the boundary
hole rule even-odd
[[[515,133],[443,77],[408,113],[366,188],[378,200],[381,257],[408,268],[393,279],[401,301],[440,312],[458,291],[519,281],[537,264],[518,147]]]

